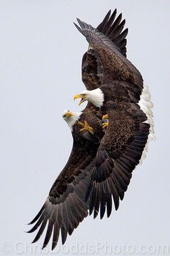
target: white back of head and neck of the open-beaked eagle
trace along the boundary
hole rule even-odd
[[[101,89],[97,88],[95,90],[90,90],[88,95],[88,100],[97,106],[97,108],[101,108],[104,102],[104,93]]]

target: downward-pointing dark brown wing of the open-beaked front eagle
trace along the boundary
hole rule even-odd
[[[126,117],[118,115],[109,113],[109,127],[99,146],[87,189],[89,213],[94,210],[94,218],[99,209],[103,218],[106,208],[107,217],[110,216],[112,198],[117,210],[148,140],[150,125],[143,122],[147,118],[139,106],[131,104]]]

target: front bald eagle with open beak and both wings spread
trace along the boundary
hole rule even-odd
[[[84,90],[74,99],[81,98],[79,104],[89,101],[106,112],[109,119],[86,191],[89,213],[94,211],[95,218],[100,210],[103,218],[106,209],[107,217],[110,216],[112,198],[115,210],[119,207],[119,199],[123,199],[132,171],[140,163],[153,124],[148,123],[147,114],[138,104],[143,92],[143,77],[138,69],[108,36],[86,22],[77,21],[77,29],[86,37],[96,58],[98,82],[94,89]]]

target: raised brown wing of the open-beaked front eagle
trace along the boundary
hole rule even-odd
[[[99,88],[104,84],[114,87],[118,82],[127,92],[124,95],[127,95],[131,102],[138,103],[143,90],[143,78],[138,69],[121,54],[120,48],[107,36],[79,19],[78,22],[81,27],[75,24],[76,27],[86,37],[90,48],[97,56],[97,69],[101,81],[98,83]]]

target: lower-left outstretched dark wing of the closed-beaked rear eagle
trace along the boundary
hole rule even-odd
[[[79,223],[88,216],[89,202],[85,202],[84,199],[97,153],[97,145],[85,140],[82,141],[82,145],[73,143],[68,163],[55,180],[40,212],[30,223],[36,222],[35,226],[28,231],[29,233],[40,226],[33,242],[40,238],[48,223],[42,248],[48,244],[53,233],[52,249],[54,249],[58,243],[59,231],[61,231],[64,244],[67,234],[71,235],[73,229],[76,229]]]

